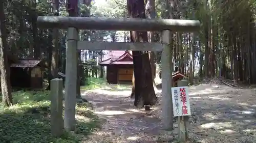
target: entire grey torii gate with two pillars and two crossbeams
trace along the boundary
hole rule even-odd
[[[171,32],[197,32],[197,20],[139,19],[139,18],[94,18],[39,16],[40,28],[67,29],[66,93],[64,126],[68,131],[75,129],[77,49],[88,50],[139,50],[162,51],[162,122],[166,129],[172,129],[172,58],[170,48]],[[79,41],[78,30],[105,31],[161,31],[161,43],[90,42]]]

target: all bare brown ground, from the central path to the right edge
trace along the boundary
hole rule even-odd
[[[189,88],[191,142],[256,142],[256,89],[234,89],[220,84]],[[177,142],[174,131],[162,130],[161,91],[151,112],[137,109],[130,99],[131,86],[104,85],[83,92],[97,116],[104,119],[100,131],[86,142]]]

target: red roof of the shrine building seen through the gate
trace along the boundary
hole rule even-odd
[[[100,65],[133,65],[132,51],[110,51],[106,60],[99,63]]]

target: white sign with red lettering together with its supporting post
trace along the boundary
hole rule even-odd
[[[175,117],[178,116],[180,142],[186,142],[188,139],[187,127],[191,115],[187,85],[187,80],[182,79],[178,81],[178,87],[172,88],[173,112]]]

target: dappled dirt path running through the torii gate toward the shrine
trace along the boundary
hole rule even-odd
[[[92,90],[83,94],[94,104],[95,113],[106,120],[101,135],[112,141],[156,140],[161,132],[160,120],[133,106],[134,99],[129,97],[131,88],[113,91],[115,85],[111,86],[108,90]]]

